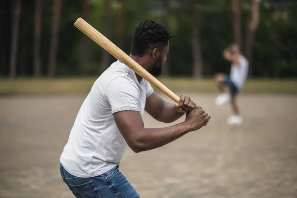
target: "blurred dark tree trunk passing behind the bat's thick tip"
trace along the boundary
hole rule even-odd
[[[86,21],[89,21],[90,18],[90,3],[90,0],[83,0],[82,17]],[[89,41],[89,37],[87,37],[86,35],[82,35],[80,69],[84,76],[88,76],[90,72]]]

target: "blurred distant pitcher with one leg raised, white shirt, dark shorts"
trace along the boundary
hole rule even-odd
[[[242,124],[243,118],[239,113],[237,98],[239,91],[244,87],[247,79],[248,61],[240,52],[237,44],[232,44],[223,51],[225,59],[232,62],[230,76],[217,74],[215,81],[221,94],[216,98],[215,103],[221,105],[230,98],[233,115],[227,119],[228,124]],[[225,86],[229,87],[230,94],[225,93]],[[231,97],[230,97],[231,96]]]

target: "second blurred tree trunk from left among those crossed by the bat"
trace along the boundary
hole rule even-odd
[[[110,40],[110,28],[111,28],[111,20],[110,20],[110,12],[111,12],[111,0],[104,0],[103,1],[103,17],[102,17],[102,23],[103,23],[103,29],[102,34]],[[100,63],[100,71],[103,73],[105,69],[108,68],[109,62],[110,62],[110,54],[105,50],[102,49],[102,58]]]

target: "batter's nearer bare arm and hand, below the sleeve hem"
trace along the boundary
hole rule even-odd
[[[184,122],[165,128],[145,128],[139,111],[120,111],[114,113],[113,117],[120,133],[134,152],[162,147],[190,131],[200,129],[210,119],[200,107],[187,113]]]

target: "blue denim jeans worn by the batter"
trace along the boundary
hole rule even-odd
[[[90,178],[71,175],[62,164],[60,164],[60,172],[63,181],[76,198],[140,198],[119,171],[118,165],[102,175]]]

